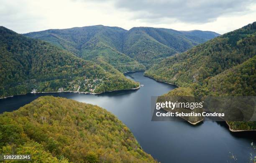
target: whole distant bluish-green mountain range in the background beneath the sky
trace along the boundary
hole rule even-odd
[[[118,27],[95,25],[50,29],[26,33],[25,36],[48,41],[83,59],[105,61],[124,72],[145,69],[145,66],[149,67],[167,56],[216,37],[218,33],[148,27],[126,31]]]

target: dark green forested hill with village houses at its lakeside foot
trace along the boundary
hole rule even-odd
[[[99,93],[138,87],[112,66],[102,68],[4,27],[0,27],[0,76],[0,97],[26,94],[32,89]]]

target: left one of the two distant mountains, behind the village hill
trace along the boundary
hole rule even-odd
[[[126,30],[103,25],[82,28],[54,29],[27,33],[25,36],[48,41],[80,58],[104,60],[121,72],[144,70],[145,66],[121,53]]]

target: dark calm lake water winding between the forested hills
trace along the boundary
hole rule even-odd
[[[196,126],[188,122],[152,122],[151,96],[159,96],[175,88],[143,76],[143,71],[126,77],[144,85],[138,90],[124,90],[103,94],[40,93],[0,99],[0,112],[17,110],[40,96],[65,97],[79,102],[96,104],[116,115],[127,125],[143,150],[161,163],[246,163],[256,132],[232,133],[224,122],[202,122]],[[230,154],[232,153],[232,154]]]

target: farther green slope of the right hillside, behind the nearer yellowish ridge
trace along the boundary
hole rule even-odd
[[[186,86],[202,82],[256,54],[256,23],[226,33],[192,49],[164,59],[146,71],[157,80]]]

